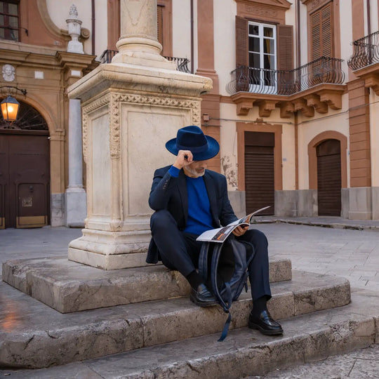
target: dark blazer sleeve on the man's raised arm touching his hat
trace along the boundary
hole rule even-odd
[[[173,178],[168,170],[171,166],[159,168],[154,173],[152,189],[149,195],[149,206],[154,211],[168,208],[168,201],[177,178]]]

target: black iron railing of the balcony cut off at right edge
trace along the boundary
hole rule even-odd
[[[361,69],[379,62],[379,32],[357,39],[352,45],[353,55],[347,61],[351,69]]]

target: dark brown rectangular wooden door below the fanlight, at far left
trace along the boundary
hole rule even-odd
[[[4,215],[4,227],[48,225],[48,135],[0,134],[0,146],[4,157],[0,166],[3,194],[0,212]]]

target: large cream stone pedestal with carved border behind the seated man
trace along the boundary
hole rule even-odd
[[[155,67],[100,65],[69,88],[81,98],[87,166],[83,237],[69,259],[105,270],[145,264],[154,170],[171,164],[164,144],[200,125],[199,95],[211,79]]]

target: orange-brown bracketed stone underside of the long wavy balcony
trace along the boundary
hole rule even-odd
[[[237,92],[230,99],[237,105],[237,115],[246,116],[253,106],[259,107],[260,117],[270,117],[275,107],[280,108],[280,117],[288,119],[299,111],[305,117],[328,113],[328,109],[342,108],[342,95],[347,91],[343,84],[319,84],[293,95],[262,95],[260,93]],[[378,75],[379,91],[379,75]]]

